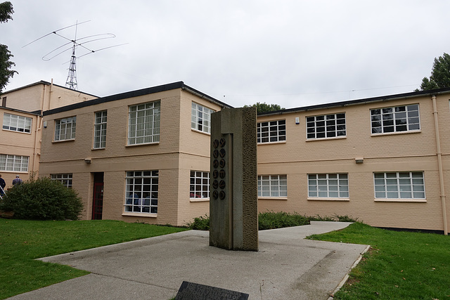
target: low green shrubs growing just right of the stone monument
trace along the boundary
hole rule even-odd
[[[297,214],[296,212],[293,214],[288,214],[284,211],[266,211],[259,213],[258,216],[259,230],[293,227],[308,224],[309,219],[306,216]]]

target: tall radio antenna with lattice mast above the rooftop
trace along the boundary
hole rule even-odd
[[[44,34],[42,37],[39,37],[38,39],[35,39],[34,41],[31,41],[30,43],[25,45],[25,46],[28,46],[28,45],[34,43],[35,41],[39,41],[39,39],[44,39],[44,37],[48,37],[51,34],[56,34],[58,37],[62,37],[63,39],[67,40],[68,41],[67,43],[59,46],[58,48],[53,49],[52,51],[47,53],[45,56],[43,56],[42,60],[48,61],[48,60],[51,60],[53,58],[56,58],[56,56],[59,56],[60,54],[65,53],[66,51],[72,50],[71,51],[72,55],[70,57],[68,78],[65,81],[65,86],[68,87],[69,89],[72,89],[72,90],[76,90],[77,86],[78,86],[78,83],[77,83],[77,56],[75,55],[75,51],[77,50],[77,48],[81,47],[85,51],[87,51],[87,53],[84,53],[82,55],[82,56],[87,56],[88,54],[92,54],[92,53],[95,53],[95,52],[98,52],[98,51],[101,51],[101,50],[105,50],[105,49],[108,49],[108,48],[113,48],[113,47],[125,45],[125,44],[119,44],[119,45],[115,45],[115,46],[99,48],[99,49],[96,49],[96,50],[93,50],[91,48],[88,48],[88,47],[84,46],[84,44],[88,44],[88,43],[91,43],[91,42],[94,42],[94,41],[99,41],[101,39],[113,39],[113,38],[115,38],[115,34],[104,33],[104,34],[94,34],[94,35],[90,35],[90,36],[87,36],[87,37],[81,37],[81,38],[77,39],[78,25],[84,24],[86,22],[90,22],[90,20],[89,21],[84,21],[84,22],[78,22],[77,21],[74,25],[63,27],[63,28],[61,28],[59,30],[55,30],[53,32],[49,32],[48,34]],[[65,36],[59,34],[59,32],[61,30],[65,30],[67,28],[74,27],[74,26],[75,26],[75,38],[74,39],[69,39],[68,37],[65,37]],[[25,47],[25,46],[23,46],[23,47]],[[63,50],[61,50],[62,48],[63,48]],[[78,58],[81,58],[82,56],[78,56]]]

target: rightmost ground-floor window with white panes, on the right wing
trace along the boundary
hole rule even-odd
[[[375,198],[425,199],[423,172],[374,173]]]

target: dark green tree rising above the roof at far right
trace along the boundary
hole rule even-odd
[[[431,76],[428,79],[423,77],[422,84],[420,84],[420,91],[427,91],[430,89],[444,89],[450,87],[450,56],[444,53],[443,56],[435,58]]]

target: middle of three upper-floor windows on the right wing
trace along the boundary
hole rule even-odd
[[[307,117],[307,139],[346,136],[345,112]]]

